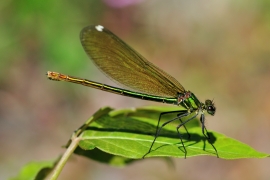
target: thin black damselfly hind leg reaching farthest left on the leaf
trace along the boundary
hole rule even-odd
[[[151,152],[151,149],[152,149],[152,147],[153,147],[153,145],[154,145],[154,143],[155,143],[157,137],[159,136],[161,129],[162,129],[164,126],[166,126],[167,124],[169,124],[169,123],[171,123],[171,122],[173,122],[173,121],[175,121],[175,120],[177,120],[177,119],[180,119],[180,118],[182,118],[182,117],[184,117],[184,116],[187,116],[187,115],[189,114],[189,112],[188,112],[187,110],[182,110],[182,111],[171,111],[171,112],[174,112],[174,113],[176,113],[176,112],[182,112],[182,114],[180,114],[180,115],[178,114],[179,116],[177,116],[176,118],[173,118],[173,119],[171,119],[171,120],[169,120],[169,121],[166,121],[166,122],[163,123],[160,127],[159,127],[159,123],[160,123],[160,119],[161,119],[160,117],[161,117],[161,116],[159,116],[159,120],[158,120],[158,124],[157,124],[157,128],[156,128],[156,134],[155,134],[154,140],[153,140],[153,142],[152,142],[152,144],[151,144],[151,146],[150,146],[148,152],[147,152],[145,155],[143,155],[142,158],[144,158],[147,154],[149,154],[149,153]],[[169,113],[169,112],[164,112],[163,114],[166,114],[166,113]]]

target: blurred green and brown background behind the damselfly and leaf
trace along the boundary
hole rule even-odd
[[[101,24],[217,112],[207,127],[270,153],[270,1],[2,0],[0,179],[53,160],[73,130],[103,106],[162,105],[64,82],[58,71],[113,84],[85,54],[80,30]],[[112,47],[113,48],[113,47]],[[269,159],[216,157],[109,167],[73,156],[59,179],[269,179]]]

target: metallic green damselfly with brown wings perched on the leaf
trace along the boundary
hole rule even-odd
[[[85,27],[81,31],[80,39],[87,55],[104,74],[118,84],[134,91],[51,71],[47,72],[49,79],[72,82],[122,96],[174,104],[185,108],[185,110],[160,114],[154,140],[143,157],[151,152],[161,129],[175,120],[180,120],[181,122],[176,129],[184,149],[185,158],[187,150],[183,143],[182,135],[179,132],[180,127],[183,126],[187,131],[185,124],[200,114],[202,133],[207,139],[210,138],[205,127],[204,112],[206,111],[210,115],[215,114],[216,108],[213,101],[209,99],[205,103],[199,101],[191,91],[185,90],[175,78],[147,61],[138,52],[101,25]],[[169,113],[177,113],[177,116],[159,126],[161,117]],[[184,117],[188,118],[182,121]],[[190,136],[188,131],[187,134]],[[218,157],[216,148],[213,144],[211,145]]]

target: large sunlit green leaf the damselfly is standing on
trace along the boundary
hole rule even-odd
[[[166,107],[165,111],[170,110],[175,109]],[[154,139],[160,112],[164,112],[164,110],[162,111],[159,107],[146,107],[110,110],[107,114],[103,113],[82,132],[82,140],[79,143],[81,151],[97,148],[103,153],[123,157],[124,159],[119,163],[121,165],[125,162],[131,162],[131,159],[141,159],[148,152]],[[165,122],[173,117],[176,117],[176,115],[164,116],[162,121]],[[179,121],[176,124],[168,124],[162,129],[151,152],[146,157],[185,157],[184,149],[176,131],[178,123]],[[213,146],[217,149],[219,157],[223,159],[264,158],[269,156],[269,154],[258,152],[244,143],[217,132],[208,131],[210,140],[205,138],[198,120],[192,120],[187,124],[187,128],[190,138],[188,138],[185,130],[180,128],[187,150],[186,157],[217,156]],[[95,158],[87,157],[101,162],[111,162],[110,159],[113,157],[110,156],[107,160],[104,160],[104,154],[102,156],[103,159],[98,156],[95,156]]]

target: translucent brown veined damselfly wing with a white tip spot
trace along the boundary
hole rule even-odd
[[[90,59],[118,84],[156,96],[176,97],[177,93],[185,92],[175,78],[147,61],[103,26],[85,27],[80,39]]]

